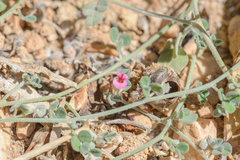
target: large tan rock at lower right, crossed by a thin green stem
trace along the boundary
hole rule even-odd
[[[176,123],[175,127],[185,134],[197,146],[203,138],[208,138],[208,136],[213,138],[217,137],[217,122],[213,119],[198,118],[196,122],[191,124],[183,124],[179,121]],[[186,142],[176,132],[174,132],[173,139]],[[183,155],[191,160],[204,159],[191,145],[189,145],[189,151]]]

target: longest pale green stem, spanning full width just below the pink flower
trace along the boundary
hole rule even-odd
[[[222,74],[221,76],[219,76],[215,80],[213,80],[210,83],[207,83],[205,85],[202,85],[200,87],[193,88],[193,89],[188,89],[188,90],[184,90],[184,91],[180,91],[180,92],[174,92],[174,93],[171,93],[171,94],[166,94],[166,95],[161,95],[161,96],[156,96],[156,97],[151,97],[151,98],[145,98],[141,101],[134,102],[134,103],[131,103],[129,105],[125,105],[123,107],[119,107],[119,108],[116,108],[116,109],[112,109],[110,111],[105,111],[105,112],[101,112],[101,113],[82,116],[82,117],[79,117],[79,118],[78,117],[77,118],[70,118],[70,119],[58,119],[58,118],[19,118],[19,119],[15,119],[15,118],[6,118],[6,119],[0,119],[0,123],[4,123],[4,122],[71,123],[71,122],[80,121],[80,120],[102,117],[102,116],[106,116],[106,115],[109,115],[109,114],[122,112],[124,110],[134,108],[134,107],[139,106],[139,105],[144,104],[144,103],[149,103],[149,102],[156,101],[156,100],[182,96],[184,94],[195,93],[195,92],[199,92],[199,91],[208,89],[208,88],[212,87],[212,85],[214,85],[214,84],[220,82],[221,80],[223,80],[224,78],[226,78],[226,76],[229,73],[233,72],[238,67],[240,67],[240,62],[235,64],[230,70],[228,70],[226,73]]]

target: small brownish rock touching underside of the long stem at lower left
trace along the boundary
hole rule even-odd
[[[19,139],[25,139],[29,137],[36,128],[36,123],[18,122],[16,133]]]

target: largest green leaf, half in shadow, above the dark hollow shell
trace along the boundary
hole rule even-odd
[[[183,49],[178,49],[178,56],[174,58],[174,49],[165,50],[161,53],[158,63],[172,67],[176,73],[179,73],[187,64],[189,58]]]

